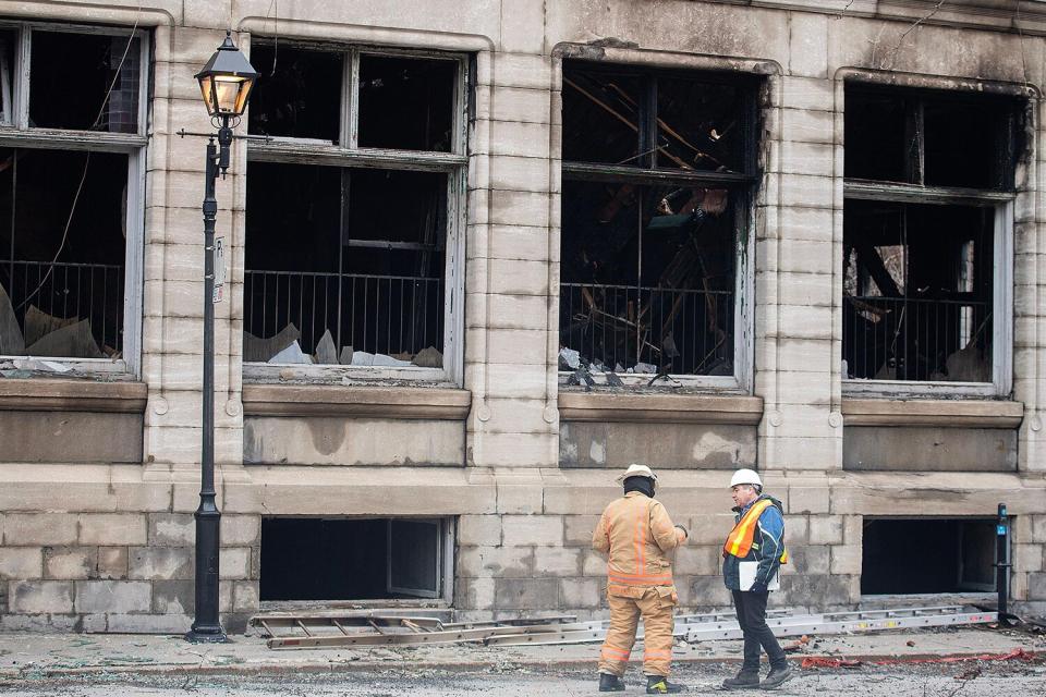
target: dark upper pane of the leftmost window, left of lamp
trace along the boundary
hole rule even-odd
[[[34,29],[32,44],[31,126],[138,132],[138,38]]]

